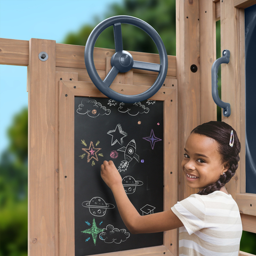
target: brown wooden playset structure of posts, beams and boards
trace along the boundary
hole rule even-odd
[[[163,85],[150,99],[164,101],[164,210],[196,193],[180,171],[183,146],[197,125],[217,119],[212,99],[211,68],[216,60],[216,22],[221,49],[230,60],[221,66],[222,100],[231,113],[222,121],[234,126],[241,140],[241,161],[227,190],[241,212],[243,230],[256,233],[256,194],[245,188],[245,18],[255,0],[176,1],[177,55],[167,56]],[[106,97],[91,82],[84,46],[32,38],[0,38],[0,64],[28,67],[28,255],[64,256],[74,252],[74,97]],[[115,50],[95,48],[97,73],[104,79]],[[131,52],[134,61],[159,63],[158,54]],[[111,89],[125,95],[147,91],[157,79],[150,70],[118,73]],[[62,108],[60,108],[60,106]],[[65,106],[65,108],[63,108]],[[167,116],[171,116],[167,118]],[[171,143],[171,146],[170,146]],[[74,143],[73,143],[74,144]],[[178,231],[164,233],[163,245],[100,255],[178,255]],[[240,252],[241,256],[252,255]]]

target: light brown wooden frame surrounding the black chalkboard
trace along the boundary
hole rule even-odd
[[[112,84],[111,89],[126,94],[141,93],[147,86]],[[122,88],[122,89],[121,89]],[[106,98],[91,82],[60,81],[59,91],[59,197],[60,255],[75,255],[74,243],[74,100],[76,96]],[[177,90],[161,88],[151,99],[164,101],[164,210],[177,202]],[[172,117],[172,120],[171,120]],[[100,255],[175,255],[177,230],[164,232],[163,246]]]

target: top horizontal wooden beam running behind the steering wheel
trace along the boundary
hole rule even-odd
[[[106,57],[111,57],[115,50],[94,48],[94,64],[97,70],[105,70]],[[130,52],[134,60],[159,63],[159,55],[153,53]],[[0,38],[0,64],[28,66],[28,41]],[[82,68],[84,63],[84,46],[56,44],[56,67]],[[156,74],[146,70],[135,69],[134,73]],[[176,76],[176,57],[168,56],[167,76]]]

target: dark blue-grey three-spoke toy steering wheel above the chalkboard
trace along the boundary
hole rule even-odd
[[[153,42],[156,44],[159,57],[160,57],[160,64],[133,61],[132,55],[129,52],[123,51],[121,23],[126,23],[129,25],[136,26],[142,29],[143,31],[145,31],[151,37]],[[113,57],[115,58],[111,58],[111,65],[114,65],[114,66],[112,67],[112,69],[110,70],[110,72],[108,73],[104,81],[102,81],[94,65],[93,50],[94,50],[94,45],[98,37],[102,33],[102,31],[110,26],[114,27],[116,55],[115,54],[114,54],[115,56],[113,55]],[[167,74],[167,68],[168,68],[168,59],[167,59],[166,49],[157,31],[153,27],[151,27],[147,22],[135,17],[127,16],[127,15],[118,15],[118,16],[114,16],[106,20],[103,20],[92,30],[85,45],[84,60],[85,60],[87,73],[89,74],[91,81],[94,83],[94,85],[108,98],[114,99],[120,102],[125,102],[125,103],[134,103],[134,102],[139,102],[139,101],[143,101],[151,98],[163,85],[166,74]],[[115,62],[115,60],[118,60],[121,63],[121,65],[119,63],[118,64],[119,66],[118,66],[117,65],[118,61]],[[131,62],[132,62],[132,65],[131,65]],[[127,67],[123,68],[123,66],[127,66]],[[119,72],[129,71],[130,70],[129,68],[157,71],[158,76],[156,78],[155,83],[148,90],[140,94],[126,95],[110,89],[109,86],[114,81],[116,75]]]

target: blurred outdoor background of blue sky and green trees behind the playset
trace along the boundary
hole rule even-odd
[[[0,0],[0,37],[85,45],[92,29],[115,15],[146,21],[162,37],[167,54],[176,54],[175,0]],[[124,50],[157,53],[153,41],[137,27],[122,25],[122,33]],[[106,29],[95,46],[114,49],[113,28]],[[217,58],[220,54],[217,22]],[[28,255],[26,87],[27,67],[0,65],[0,256]],[[255,234],[244,231],[241,250],[256,254],[255,241]]]

